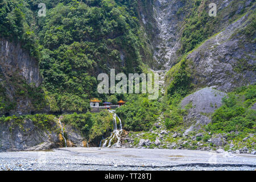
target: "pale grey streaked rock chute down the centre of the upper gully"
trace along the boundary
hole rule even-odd
[[[154,58],[162,65],[163,69],[168,69],[176,63],[177,50],[180,48],[180,22],[184,16],[177,16],[177,11],[183,7],[183,1],[154,1],[154,19],[158,34],[155,40]]]

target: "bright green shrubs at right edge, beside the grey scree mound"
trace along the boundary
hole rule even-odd
[[[256,111],[250,109],[256,101],[255,96],[256,85],[243,86],[229,93],[223,98],[223,105],[212,114],[212,123],[206,129],[214,133],[255,133]]]

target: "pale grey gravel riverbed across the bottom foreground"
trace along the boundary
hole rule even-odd
[[[1,152],[0,170],[254,171],[256,156],[140,148],[56,148]]]

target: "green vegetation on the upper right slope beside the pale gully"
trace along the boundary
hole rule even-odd
[[[218,10],[217,16],[209,16],[208,5],[211,1],[193,0],[186,1],[185,6],[181,8],[178,12],[189,12],[183,21],[183,33],[181,38],[181,48],[180,53],[184,54],[192,51],[200,43],[207,40],[210,36],[220,32],[223,25],[226,23],[232,23],[241,16],[245,15],[245,12],[249,10],[250,7],[238,11],[240,6],[243,6],[245,2],[243,1],[232,1],[226,7]],[[253,3],[251,3],[253,5]],[[228,18],[227,18],[228,17]],[[254,17],[255,24],[255,17]],[[247,27],[247,34],[253,35],[253,23]],[[255,26],[254,26],[255,27]]]

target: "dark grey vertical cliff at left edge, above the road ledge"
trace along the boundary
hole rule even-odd
[[[39,96],[33,92],[40,92],[36,88],[41,82],[38,60],[24,51],[20,43],[1,38],[0,114],[30,114],[36,110],[38,104],[33,102]]]

